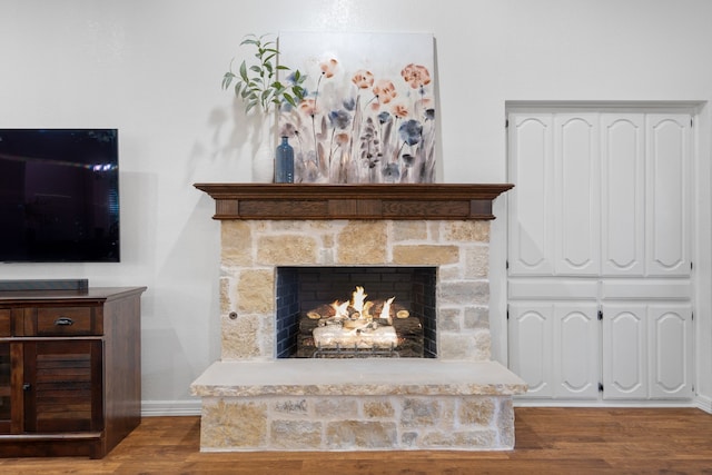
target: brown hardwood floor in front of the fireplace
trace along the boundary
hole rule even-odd
[[[1,474],[712,474],[694,408],[515,409],[510,452],[200,453],[198,417],[145,417],[109,455],[0,458]]]

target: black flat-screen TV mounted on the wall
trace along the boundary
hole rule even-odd
[[[0,261],[118,263],[117,129],[0,129]]]

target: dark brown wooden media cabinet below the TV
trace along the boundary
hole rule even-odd
[[[138,426],[145,290],[0,291],[0,456],[101,458]]]

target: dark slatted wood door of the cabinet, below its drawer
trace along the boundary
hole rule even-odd
[[[38,340],[23,346],[24,432],[101,431],[101,340]]]

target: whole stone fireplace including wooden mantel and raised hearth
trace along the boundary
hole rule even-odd
[[[511,186],[196,187],[221,220],[221,357],[191,386],[201,451],[514,446],[512,396],[526,387],[491,359],[487,279],[492,200]],[[281,287],[345,271],[348,286],[377,273],[432,281],[429,309],[412,288],[398,294],[424,327],[424,357],[286,358],[295,315],[315,303],[299,308],[298,291]]]

